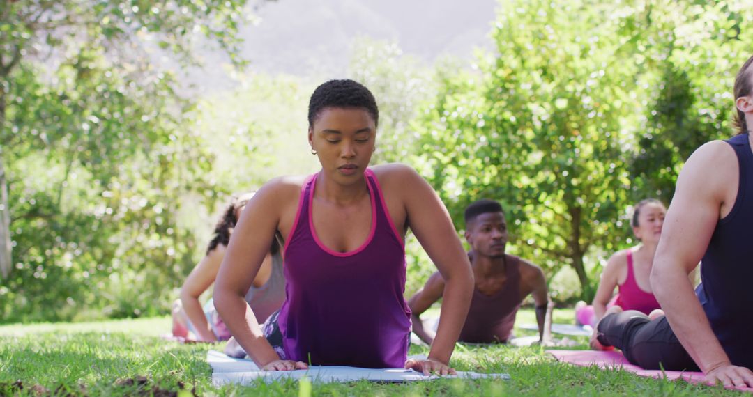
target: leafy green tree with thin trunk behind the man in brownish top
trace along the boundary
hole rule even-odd
[[[477,73],[451,72],[425,123],[434,183],[456,217],[501,199],[518,249],[552,271],[572,266],[584,297],[584,256],[623,237],[623,147],[639,109],[626,19],[599,2],[505,2],[495,55]]]

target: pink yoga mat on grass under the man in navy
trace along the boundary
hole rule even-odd
[[[596,350],[547,350],[556,359],[561,362],[589,367],[597,365],[599,368],[622,368],[625,371],[643,377],[654,377],[657,379],[666,378],[667,380],[682,379],[691,383],[702,383],[703,372],[687,371],[659,371],[643,369],[638,365],[630,364],[622,353],[617,351],[596,351]],[[753,392],[753,387],[730,387],[729,389]]]

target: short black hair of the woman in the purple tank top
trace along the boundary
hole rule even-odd
[[[353,80],[329,80],[316,87],[309,99],[309,128],[326,108],[362,108],[379,126],[379,108],[374,95],[363,84]]]

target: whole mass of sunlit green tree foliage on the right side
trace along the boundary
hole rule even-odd
[[[723,2],[501,2],[495,52],[475,70],[440,71],[416,124],[456,222],[468,202],[499,199],[514,252],[549,274],[569,265],[590,299],[599,268],[586,259],[630,244],[625,208],[666,199],[690,151],[729,135],[742,12]]]

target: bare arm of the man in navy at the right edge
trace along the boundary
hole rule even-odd
[[[730,363],[687,278],[709,247],[721,209],[732,204],[725,202],[730,197],[725,193],[730,186],[737,186],[738,169],[733,149],[721,141],[703,145],[687,160],[664,220],[651,288],[669,325],[706,380],[753,386],[753,372]]]

